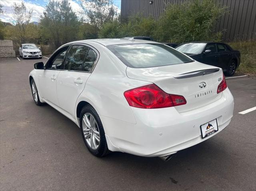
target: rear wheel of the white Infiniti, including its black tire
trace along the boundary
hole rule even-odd
[[[97,157],[103,157],[110,152],[100,117],[90,105],[82,108],[80,113],[80,129],[84,144],[90,153]]]

